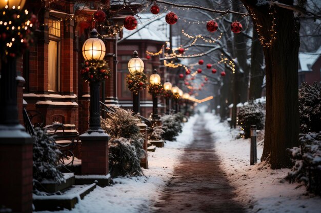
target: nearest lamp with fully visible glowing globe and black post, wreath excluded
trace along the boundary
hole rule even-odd
[[[102,60],[105,57],[106,47],[104,42],[98,38],[98,32],[93,29],[90,38],[83,44],[83,56],[86,60]],[[88,133],[104,132],[101,128],[100,105],[99,105],[99,86],[100,81],[90,81],[90,119]]]

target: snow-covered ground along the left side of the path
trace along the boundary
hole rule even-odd
[[[197,115],[184,124],[183,132],[176,141],[167,141],[163,148],[148,152],[149,169],[143,177],[113,178],[114,185],[97,186],[72,210],[56,212],[68,213],[130,213],[151,212],[151,206],[158,201],[165,184],[172,176],[184,147],[193,141],[193,125]],[[52,211],[38,211],[52,212]]]

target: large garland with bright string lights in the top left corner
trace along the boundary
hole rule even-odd
[[[0,9],[0,54],[5,57],[21,56],[33,43],[33,32],[38,27],[35,15],[29,14],[28,10],[19,10],[8,5]]]

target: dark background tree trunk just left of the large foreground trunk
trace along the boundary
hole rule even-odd
[[[264,79],[263,50],[259,43],[257,33],[253,29],[253,42],[251,46],[251,80],[249,99],[258,99],[262,96],[262,84]]]

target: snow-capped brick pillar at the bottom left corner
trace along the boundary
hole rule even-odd
[[[0,130],[0,204],[32,212],[32,143],[26,132]]]

